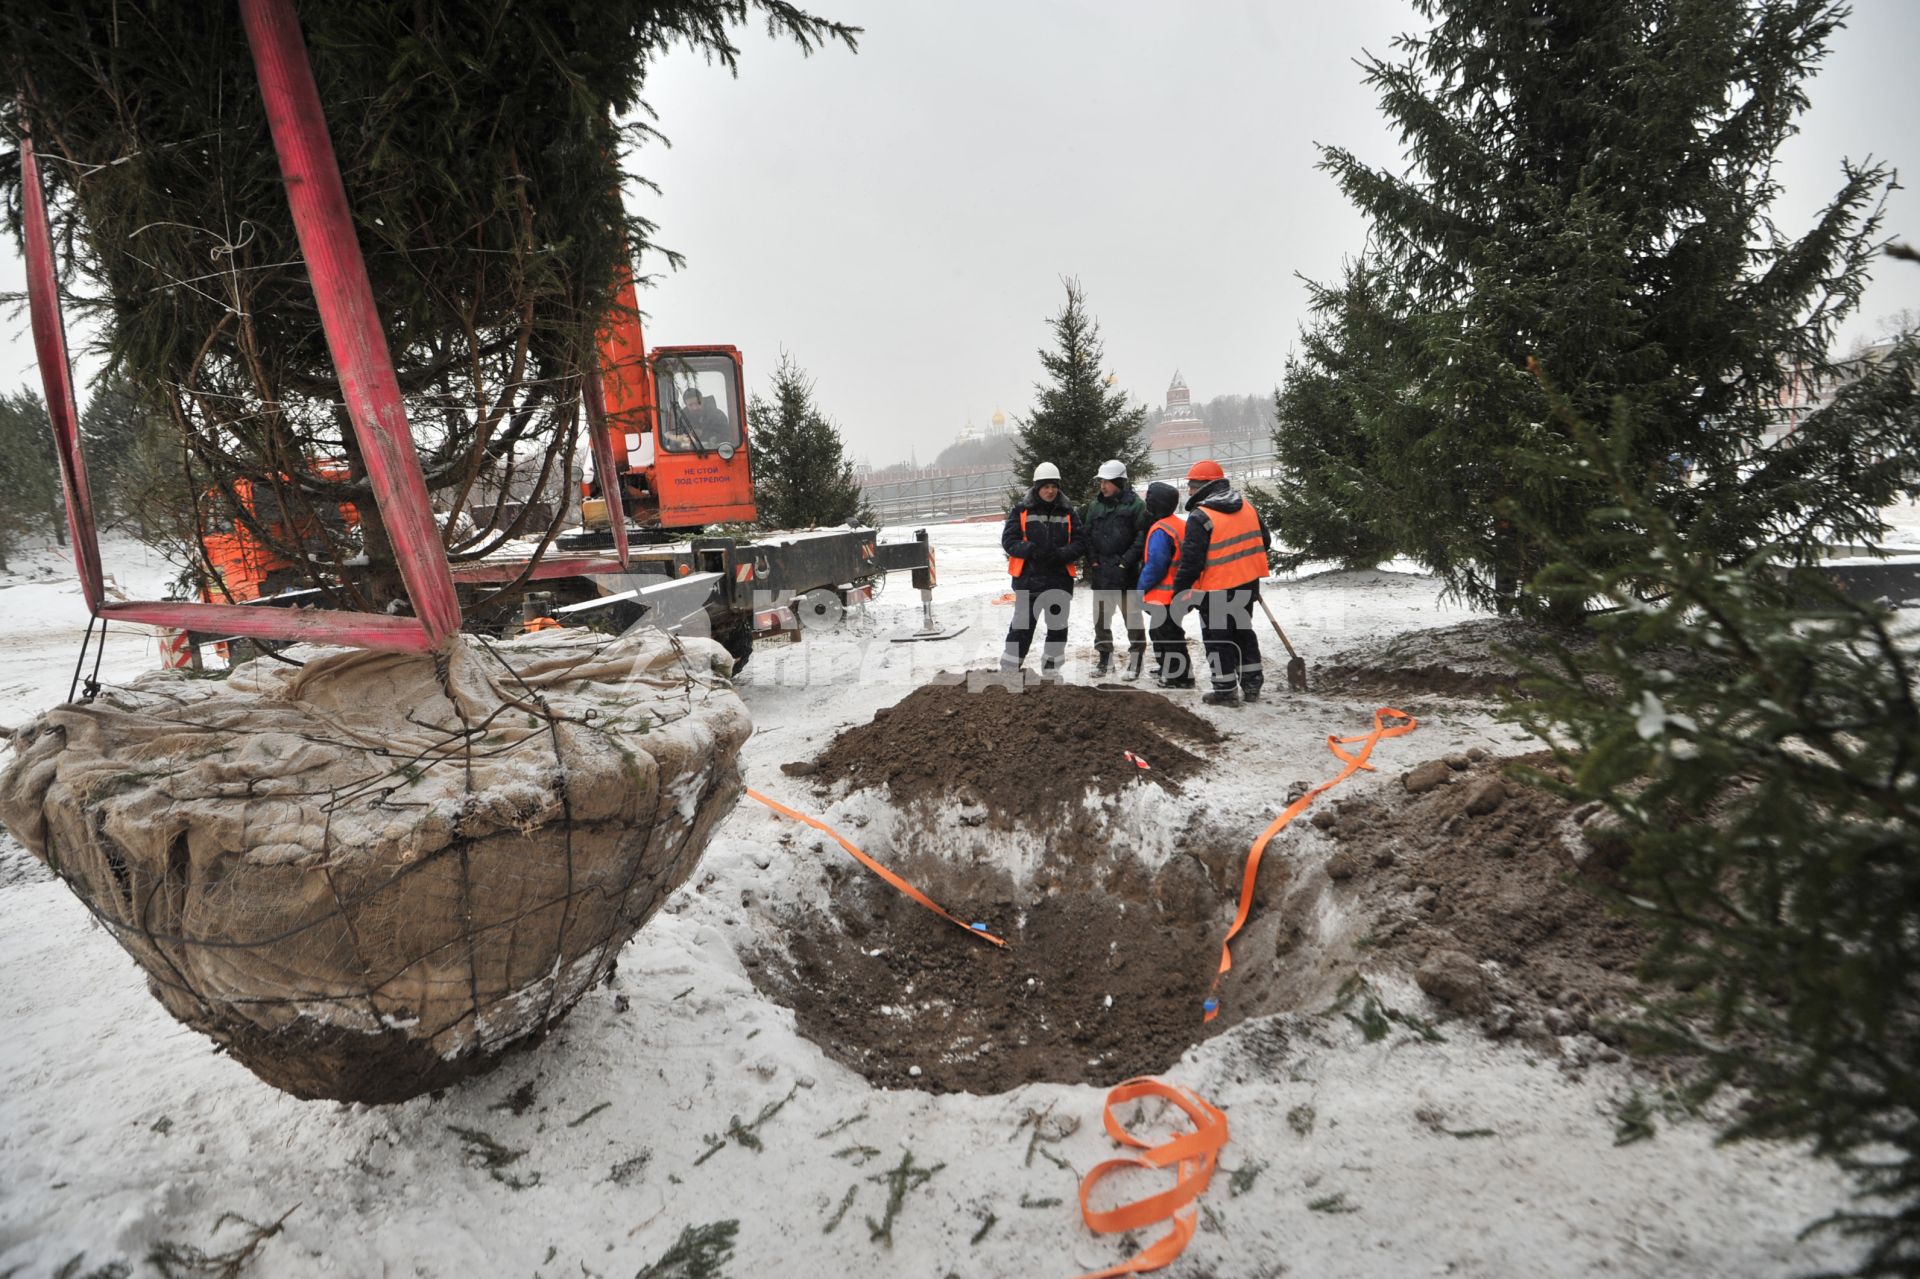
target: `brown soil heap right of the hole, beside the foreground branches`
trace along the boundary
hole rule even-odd
[[[1619,866],[1597,810],[1519,782],[1515,762],[1546,770],[1551,757],[1428,760],[1404,785],[1319,810],[1338,843],[1327,872],[1359,891],[1367,951],[1496,1039],[1617,1045],[1607,1022],[1642,991],[1649,935],[1594,891]]]

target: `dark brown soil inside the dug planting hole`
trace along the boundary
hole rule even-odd
[[[1177,858],[1127,893],[1075,881],[1021,889],[1018,901],[948,895],[962,918],[991,920],[1004,951],[851,880],[831,920],[793,920],[785,949],[751,956],[749,968],[795,1010],[801,1033],[881,1087],[1106,1087],[1167,1070],[1238,1020],[1202,1018],[1231,918],[1229,858],[1210,860],[1212,872]]]

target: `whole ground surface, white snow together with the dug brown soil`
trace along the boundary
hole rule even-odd
[[[741,760],[1006,951],[743,801],[543,1043],[397,1106],[300,1102],[169,1018],[0,839],[0,1275],[252,1246],[242,1266],[271,1275],[1066,1277],[1158,1233],[1094,1235],[1075,1198],[1116,1152],[1106,1085],[1142,1072],[1231,1123],[1169,1275],[1851,1262],[1797,1237],[1847,1202],[1828,1164],[1716,1146],[1713,1116],[1665,1114],[1659,1068],[1619,1052],[1636,939],[1571,883],[1605,858],[1582,814],[1500,780],[1536,749],[1488,699],[1486,643],[1511,628],[1411,570],[1317,574],[1267,588],[1306,695],[1277,670],[1225,711],[1083,688],[1085,607],[1068,688],[970,688],[1006,626],[998,530],[931,532],[941,620],[968,630],[889,643],[920,620],[893,590],[762,647],[737,680]],[[131,595],[171,576],[108,557]],[[65,697],[84,628],[58,553],[21,565],[0,580],[6,724]],[[115,632],[102,678],[156,661]],[[1275,839],[1202,1022],[1248,843],[1340,770],[1327,734],[1380,705],[1419,730]]]

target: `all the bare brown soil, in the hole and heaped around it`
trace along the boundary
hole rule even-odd
[[[1413,640],[1448,653],[1484,638],[1452,630]],[[1459,674],[1448,691],[1461,695],[1511,678],[1492,663],[1428,664]],[[828,910],[783,920],[778,939],[747,960],[755,981],[835,1060],[883,1087],[935,1093],[1039,1079],[1112,1085],[1164,1072],[1248,1016],[1321,1012],[1359,970],[1411,974],[1448,953],[1465,958],[1453,954],[1423,985],[1442,1008],[1448,989],[1461,995],[1450,1016],[1538,1043],[1569,1068],[1617,1056],[1622,1037],[1609,1020],[1636,1004],[1634,964],[1647,937],[1580,883],[1611,876],[1617,862],[1605,847],[1588,855],[1569,803],[1515,780],[1501,782],[1490,812],[1469,812],[1469,799],[1482,791],[1475,807],[1484,808],[1486,784],[1515,762],[1484,757],[1434,764],[1446,780],[1427,793],[1392,780],[1315,805],[1304,824],[1336,843],[1327,874],[1300,874],[1296,857],[1267,858],[1221,989],[1223,1016],[1206,1024],[1202,1001],[1252,832],[1217,830],[1196,812],[1171,858],[1150,872],[1069,801],[1087,789],[1177,787],[1204,764],[1190,747],[1212,741],[1198,716],[1131,689],[970,691],[948,678],[910,693],[795,772],[824,785],[887,787],[927,824],[954,820],[941,805],[964,799],[983,805],[1000,832],[1031,835],[1046,855],[1025,883],[931,853],[897,866],[1012,947],[970,939],[868,876],[829,870]],[[1261,743],[1242,745],[1258,762]],[[1137,776],[1127,749],[1154,764],[1152,782]],[[966,814],[958,820],[966,826]],[[1348,916],[1340,937],[1321,931],[1329,887]]]

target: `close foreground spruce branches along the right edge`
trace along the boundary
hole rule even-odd
[[[1834,436],[1920,417],[1920,338],[1814,417]],[[1655,937],[1638,1043],[1678,1056],[1690,1100],[1743,1091],[1724,1137],[1811,1139],[1857,1177],[1822,1221],[1866,1241],[1851,1273],[1916,1275],[1920,632],[1818,570],[1728,567],[1659,505],[1624,413],[1605,438],[1563,421],[1565,471],[1607,505],[1538,590],[1613,609],[1534,664],[1511,716],[1561,764],[1538,780],[1611,812],[1582,881]]]

